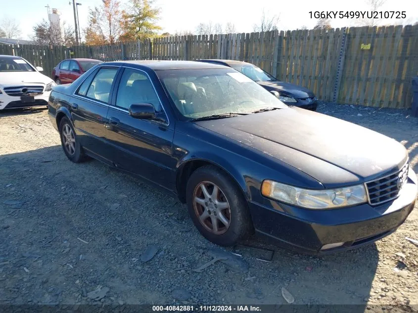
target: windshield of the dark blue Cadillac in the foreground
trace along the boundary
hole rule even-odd
[[[269,91],[232,69],[160,70],[158,77],[188,118],[252,113],[287,107]]]

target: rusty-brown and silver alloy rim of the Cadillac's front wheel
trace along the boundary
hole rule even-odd
[[[224,192],[215,183],[202,181],[193,192],[194,212],[208,231],[221,235],[231,225],[231,208]]]

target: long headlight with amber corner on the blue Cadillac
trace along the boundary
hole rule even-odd
[[[264,180],[263,196],[307,209],[333,209],[367,202],[364,184],[335,189],[303,189]]]

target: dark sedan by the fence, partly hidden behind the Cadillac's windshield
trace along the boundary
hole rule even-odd
[[[232,67],[234,70],[241,72],[257,84],[263,86],[264,89],[269,91],[278,91],[279,99],[287,105],[294,105],[312,111],[317,110],[318,99],[311,90],[302,86],[281,82],[273,75],[263,71],[261,68],[251,63],[219,59],[202,59],[197,61]]]

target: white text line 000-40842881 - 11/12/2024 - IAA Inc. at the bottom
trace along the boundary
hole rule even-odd
[[[233,305],[233,306],[152,306],[153,312],[261,312],[259,306]]]

